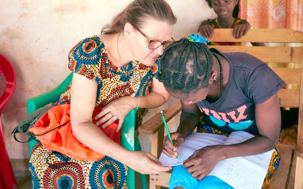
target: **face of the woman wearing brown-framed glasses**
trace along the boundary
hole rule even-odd
[[[165,42],[171,41],[173,28],[173,24],[150,18],[142,28],[138,29],[150,40]],[[155,64],[156,59],[163,54],[163,45],[156,49],[149,49],[149,42],[143,34],[134,28],[134,32],[130,34],[130,50],[135,60],[146,66],[152,66]]]

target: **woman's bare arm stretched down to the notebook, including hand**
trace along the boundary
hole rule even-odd
[[[74,74],[71,93],[71,124],[73,135],[92,150],[114,158],[134,170],[149,174],[168,171],[155,156],[148,152],[132,152],[108,138],[92,123],[95,108],[97,83],[86,77]]]

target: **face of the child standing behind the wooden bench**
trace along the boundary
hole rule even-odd
[[[228,18],[232,16],[235,5],[238,0],[211,0],[211,6],[220,18]]]

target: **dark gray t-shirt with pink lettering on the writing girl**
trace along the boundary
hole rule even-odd
[[[247,53],[222,53],[230,65],[230,75],[222,96],[215,102],[202,100],[197,104],[206,125],[222,132],[246,131],[258,135],[255,104],[277,93],[285,82],[267,64]]]

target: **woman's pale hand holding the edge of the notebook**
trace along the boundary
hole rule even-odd
[[[159,174],[172,169],[172,167],[161,166],[161,162],[148,152],[131,152],[125,159],[125,164],[128,167],[141,174]]]

